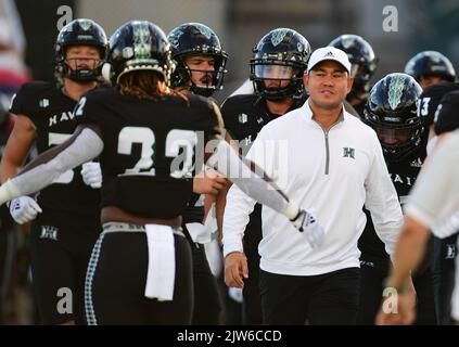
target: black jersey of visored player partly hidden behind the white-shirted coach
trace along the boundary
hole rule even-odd
[[[295,99],[289,111],[301,107],[308,95]],[[225,129],[231,138],[238,141],[241,155],[245,156],[258,132],[272,119],[280,115],[271,114],[263,99],[255,94],[238,94],[228,98],[221,105]],[[244,244],[256,249],[262,239],[262,205],[256,204],[245,227]]]

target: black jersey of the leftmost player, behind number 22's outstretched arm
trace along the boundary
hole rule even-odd
[[[11,112],[27,116],[37,131],[37,151],[42,153],[68,139],[77,126],[73,110],[76,101],[54,83],[25,83],[12,101]],[[38,204],[46,211],[67,211],[99,218],[100,190],[82,181],[81,167],[61,175],[53,184],[40,191]]]

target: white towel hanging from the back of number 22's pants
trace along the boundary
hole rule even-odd
[[[145,224],[149,246],[149,270],[145,296],[160,301],[174,299],[176,252],[174,231],[169,226]]]

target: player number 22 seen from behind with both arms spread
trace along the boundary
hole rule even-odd
[[[192,258],[180,226],[193,192],[193,167],[202,167],[193,163],[194,154],[228,177],[231,167],[240,168],[241,176],[231,180],[242,191],[285,215],[313,246],[323,242],[317,219],[289,202],[264,172],[251,171],[221,140],[214,102],[167,87],[174,64],[160,27],[124,24],[110,39],[107,60],[114,88],[82,97],[75,107],[80,126],[72,138],[0,188],[1,204],[100,156],[103,232],[86,278],[88,323],[191,323]],[[195,152],[200,138],[215,151]]]

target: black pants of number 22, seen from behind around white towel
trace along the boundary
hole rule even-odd
[[[193,279],[190,245],[174,235],[174,300],[144,296],[149,249],[144,232],[102,234],[94,245],[86,281],[88,324],[190,324]]]

